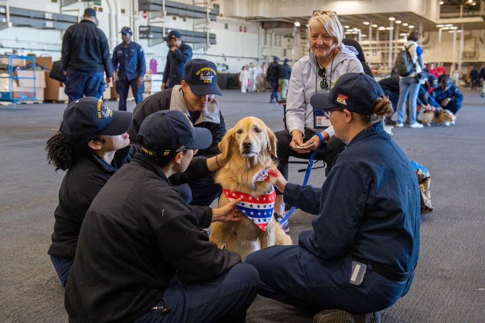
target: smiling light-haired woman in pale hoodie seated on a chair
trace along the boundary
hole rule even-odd
[[[310,104],[310,97],[315,93],[326,93],[332,84],[343,74],[350,72],[364,72],[362,64],[351,50],[342,44],[343,28],[335,11],[313,12],[308,20],[307,56],[301,58],[293,66],[286,103],[287,128],[276,132],[278,139],[277,156],[278,170],[288,179],[288,159],[290,156],[305,154],[310,156],[312,150],[317,149],[320,142],[317,132],[322,133],[325,150],[325,175],[332,168],[333,160],[340,154],[347,143],[334,137],[332,124],[324,120],[318,123],[318,117],[323,111],[314,110]],[[315,143],[307,149],[295,148]],[[285,214],[283,195],[276,194],[275,213],[282,217]],[[288,232],[288,224],[283,224]]]

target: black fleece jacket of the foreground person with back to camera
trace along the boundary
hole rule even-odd
[[[84,219],[65,288],[69,322],[134,322],[159,302],[174,275],[197,284],[241,262],[199,230],[211,219],[210,207],[182,200],[154,159],[135,154]]]

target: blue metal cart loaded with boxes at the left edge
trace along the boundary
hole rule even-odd
[[[17,60],[17,61],[14,61]],[[14,75],[14,62],[18,62],[18,60],[23,60],[25,65],[27,65],[30,61],[32,61],[32,68],[33,68],[33,76],[32,77],[18,77]],[[12,102],[14,104],[14,109],[16,108],[18,101],[36,101],[36,87],[35,87],[35,56],[18,56],[18,55],[1,55],[0,61],[4,64],[8,65],[7,76],[0,76],[0,101],[7,101]],[[2,71],[0,70],[0,73]],[[7,73],[4,73],[7,74]],[[18,79],[32,79],[33,81],[33,92],[18,92],[14,91],[14,83],[17,82]]]

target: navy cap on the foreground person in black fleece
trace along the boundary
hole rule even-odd
[[[151,149],[142,146],[142,151],[155,157],[187,149],[205,149],[212,143],[209,129],[194,127],[190,118],[178,110],[150,114],[140,126],[138,136],[150,144]]]

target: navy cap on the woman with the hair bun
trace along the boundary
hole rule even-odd
[[[384,95],[379,83],[364,73],[340,76],[328,93],[315,93],[310,104],[315,109],[343,108],[360,114],[373,114],[377,99]]]

